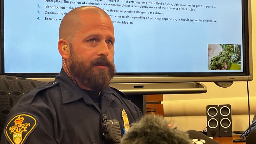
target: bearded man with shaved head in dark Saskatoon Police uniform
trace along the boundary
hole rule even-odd
[[[65,15],[58,42],[63,68],[55,81],[13,106],[1,144],[107,143],[103,115],[104,121],[116,119],[121,130],[128,130],[141,113],[109,87],[115,74],[114,42],[112,21],[100,8],[79,7]]]

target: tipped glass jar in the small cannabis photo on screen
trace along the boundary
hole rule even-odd
[[[222,44],[221,48],[222,51],[229,51],[233,53],[229,59],[226,59],[226,61],[236,65],[241,65],[241,45]]]

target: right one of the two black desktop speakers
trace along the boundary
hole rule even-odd
[[[220,136],[232,136],[231,106],[219,105]]]

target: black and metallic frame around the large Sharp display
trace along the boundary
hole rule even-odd
[[[243,71],[244,72],[158,72],[158,73],[118,73],[112,83],[156,83],[156,82],[203,82],[203,81],[251,81],[252,76],[252,40],[251,40],[251,0],[242,1],[243,28]],[[4,0],[1,0],[1,67],[3,75],[25,78],[54,78],[58,73],[6,73],[4,71]],[[61,69],[61,67],[60,67]]]

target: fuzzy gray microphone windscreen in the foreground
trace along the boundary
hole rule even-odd
[[[131,129],[123,135],[120,144],[191,144],[186,132],[169,127],[169,121],[163,117],[145,115],[133,123]]]

